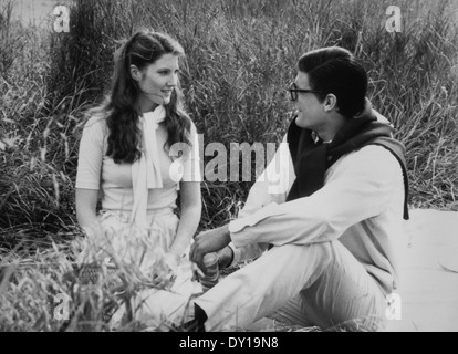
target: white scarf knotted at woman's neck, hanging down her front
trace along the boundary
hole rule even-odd
[[[166,111],[163,105],[158,105],[153,112],[139,116],[142,156],[132,165],[134,205],[131,214],[131,222],[139,228],[147,227],[148,190],[163,188],[156,131],[159,123],[164,122],[165,116]]]

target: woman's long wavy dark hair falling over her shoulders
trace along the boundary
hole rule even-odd
[[[142,70],[164,54],[185,55],[181,45],[170,37],[148,30],[136,32],[115,54],[111,94],[105,103],[93,113],[97,112],[106,118],[108,128],[106,155],[112,157],[116,164],[132,164],[142,156],[138,147],[140,113],[135,107],[140,92],[131,75],[131,65],[136,65]],[[191,144],[189,139],[190,118],[183,110],[181,102],[183,96],[178,83],[170,102],[165,105],[164,124],[168,133],[165,149],[175,143]]]

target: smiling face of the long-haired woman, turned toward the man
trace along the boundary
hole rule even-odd
[[[154,110],[157,105],[170,102],[171,93],[178,83],[178,56],[164,54],[153,64],[133,75],[137,81],[140,94],[137,104],[142,112]]]

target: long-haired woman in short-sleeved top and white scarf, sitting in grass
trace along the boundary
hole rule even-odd
[[[179,91],[183,56],[175,40],[147,30],[122,45],[111,94],[83,131],[76,176],[82,258],[135,264],[158,287],[169,280],[159,262],[183,263],[201,211],[197,132]]]

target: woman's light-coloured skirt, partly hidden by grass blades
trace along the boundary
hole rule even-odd
[[[98,216],[102,232],[87,237],[79,260],[115,264],[137,289],[128,299],[119,296],[111,326],[121,329],[135,320],[148,330],[168,331],[190,321],[191,300],[202,290],[194,280],[188,250],[180,258],[168,253],[178,217],[171,209],[148,212],[147,228],[137,228],[129,223],[129,211],[103,210]],[[154,282],[157,277],[165,280],[160,288]]]

